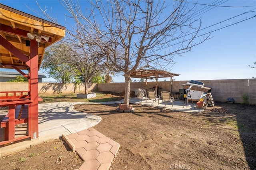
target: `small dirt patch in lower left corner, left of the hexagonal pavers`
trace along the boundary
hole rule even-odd
[[[73,170],[83,160],[72,152],[62,139],[32,146],[26,150],[1,157],[1,170]]]

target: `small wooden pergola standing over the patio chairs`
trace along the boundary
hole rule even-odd
[[[158,89],[158,78],[170,77],[171,78],[170,81],[172,84],[172,77],[174,76],[180,76],[180,74],[170,73],[164,70],[150,70],[150,69],[140,69],[131,74],[132,78],[146,79],[146,91],[147,91],[148,79],[156,79],[156,88],[155,88],[156,94]],[[172,92],[172,89],[171,89],[171,92]]]

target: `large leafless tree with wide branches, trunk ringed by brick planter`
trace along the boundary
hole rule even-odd
[[[68,32],[80,45],[97,45],[111,71],[125,75],[124,103],[130,102],[131,74],[137,69],[170,71],[175,55],[183,55],[202,40],[195,4],[184,0],[63,0],[62,5],[76,22]],[[82,3],[80,5],[79,3]],[[48,17],[49,18],[49,17]],[[99,51],[98,51],[99,52]]]

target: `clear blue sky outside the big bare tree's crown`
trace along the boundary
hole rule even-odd
[[[196,1],[190,1],[196,2]],[[197,8],[204,8],[205,5],[215,1],[198,1]],[[256,1],[255,0],[229,0],[224,2],[221,7],[208,8],[201,14],[201,28],[212,26],[200,32],[200,34],[212,32],[210,40],[192,48],[192,51],[181,56],[174,57],[176,64],[173,65],[171,72],[179,73],[178,80],[208,80],[208,79],[248,79],[256,77],[256,68],[250,68],[256,61]],[[22,12],[38,16],[35,12],[40,11],[34,0],[1,0],[1,3]],[[58,0],[39,0],[41,8],[51,10],[52,16],[65,26],[65,9]],[[247,12],[243,14],[244,12]],[[38,16],[40,17],[40,16]],[[42,17],[40,17],[42,18]],[[251,18],[251,19],[248,19]],[[246,20],[248,19],[248,20]],[[246,20],[246,21],[243,21]],[[68,22],[72,22],[69,21]],[[236,22],[240,22],[235,24]],[[232,26],[229,26],[234,24]],[[228,26],[226,28],[223,28]],[[4,71],[4,69],[1,69]],[[40,73],[42,73],[40,71]],[[47,75],[46,75],[47,76]],[[122,75],[113,77],[115,82],[124,82]],[[170,79],[166,79],[169,81]],[[44,79],[43,81],[54,81]],[[160,81],[164,81],[160,79]]]

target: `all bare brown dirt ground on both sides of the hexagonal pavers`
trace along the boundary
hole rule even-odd
[[[256,106],[216,103],[203,113],[133,105],[76,105],[98,115],[96,130],[120,143],[110,170],[256,169]],[[0,159],[1,169],[76,169],[82,160],[62,140],[33,146]]]

